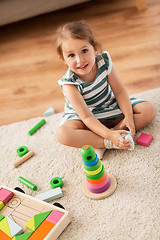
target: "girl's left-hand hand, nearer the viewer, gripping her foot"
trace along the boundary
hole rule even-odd
[[[131,147],[130,143],[128,141],[125,141],[124,138],[121,136],[121,134],[123,133],[127,134],[125,130],[112,131],[111,137],[109,140],[111,140],[112,143],[114,143],[117,147],[121,149],[129,149]]]

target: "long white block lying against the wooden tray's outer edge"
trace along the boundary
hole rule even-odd
[[[54,188],[52,190],[49,190],[47,192],[44,192],[35,196],[35,198],[45,202],[50,202],[60,197],[63,197],[63,193],[60,187]]]

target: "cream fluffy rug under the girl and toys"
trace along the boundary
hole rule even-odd
[[[60,240],[158,240],[160,237],[160,88],[134,96],[155,104],[157,116],[152,124],[137,133],[152,134],[149,147],[135,145],[134,151],[108,150],[103,159],[107,172],[118,182],[115,193],[103,200],[90,200],[81,191],[85,178],[80,150],[60,145],[56,128],[62,113],[46,118],[35,134],[27,132],[42,118],[0,127],[0,182],[21,187],[27,194],[50,190],[50,180],[63,179],[64,197],[56,200],[71,214],[72,221]],[[35,156],[18,168],[16,150],[27,146]],[[32,191],[18,182],[22,176],[35,185]]]

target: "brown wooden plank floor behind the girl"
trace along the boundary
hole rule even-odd
[[[50,106],[63,111],[57,81],[66,67],[53,36],[63,22],[92,26],[129,94],[160,87],[160,2],[139,12],[120,1],[92,1],[0,28],[0,125],[43,116]]]

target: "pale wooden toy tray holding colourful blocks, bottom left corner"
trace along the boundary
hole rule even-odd
[[[53,227],[54,224],[51,223],[51,224],[53,224],[52,225],[53,228],[50,231],[48,231],[48,234],[45,236],[45,239],[48,239],[48,240],[56,240],[71,221],[69,212],[64,209],[58,208],[47,202],[38,200],[35,197],[31,197],[27,194],[15,191],[14,189],[8,188],[6,186],[2,186],[2,187],[0,187],[0,189],[1,188],[5,188],[5,189],[11,191],[14,194],[14,196],[2,208],[0,213],[3,214],[4,216],[8,216],[14,222],[16,222],[18,225],[20,225],[23,228],[24,233],[27,233],[27,231],[28,231],[28,230],[26,230],[25,224],[33,216],[35,216],[39,213],[52,211],[52,210],[56,210],[56,211],[64,213],[63,217],[59,220],[59,222],[55,225],[55,227]],[[45,219],[44,221],[47,221],[47,220]],[[43,224],[43,222],[42,222],[42,224]],[[35,231],[37,231],[38,228]],[[33,232],[33,234],[35,234],[35,233]],[[36,236],[36,235],[34,235],[34,236]],[[26,240],[26,238],[24,238],[24,237],[26,237],[25,234],[21,234],[21,235],[15,236],[14,240],[17,240],[17,239],[18,240]],[[8,239],[11,239],[11,238],[7,238],[7,240]],[[39,236],[38,236],[38,238],[33,237],[32,239],[40,240],[41,238],[39,238]],[[44,238],[42,237],[42,239],[44,239]],[[1,235],[0,235],[0,240],[2,240]],[[6,239],[4,239],[4,240],[6,240]]]

